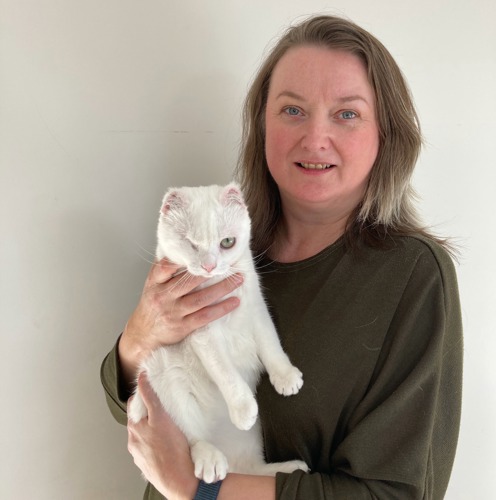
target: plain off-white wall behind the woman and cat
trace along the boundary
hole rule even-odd
[[[2,0],[0,498],[141,498],[100,363],[139,298],[166,187],[229,180],[267,46],[316,12],[374,33],[415,96],[422,213],[462,254],[447,498],[494,494],[496,3]]]

